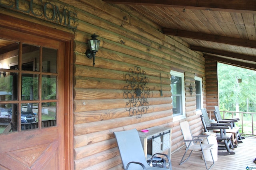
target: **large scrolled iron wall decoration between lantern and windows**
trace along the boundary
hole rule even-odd
[[[129,72],[125,74],[125,80],[128,84],[124,86],[124,98],[129,100],[126,102],[126,111],[129,111],[129,116],[136,115],[136,118],[140,118],[147,113],[149,108],[150,89],[147,87],[148,77],[145,71],[135,66],[134,70],[130,68]]]

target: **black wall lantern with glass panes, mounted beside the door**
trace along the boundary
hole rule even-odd
[[[90,39],[88,41],[88,45],[89,45],[89,48],[87,51],[86,51],[86,56],[91,59],[93,58],[93,66],[95,65],[95,55],[96,53],[98,52],[98,49],[100,47],[100,40],[96,39],[98,37],[98,35],[95,35],[95,33],[93,35],[91,35],[92,39]]]

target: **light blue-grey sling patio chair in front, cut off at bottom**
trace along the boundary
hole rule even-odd
[[[153,154],[150,162],[147,163],[142,144],[140,142],[140,137],[136,129],[114,132],[114,135],[120,151],[124,170],[167,170],[166,168],[149,166],[154,156],[157,154],[166,156],[169,162],[169,168],[172,170],[170,157],[167,154]]]

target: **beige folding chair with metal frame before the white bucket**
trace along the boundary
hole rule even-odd
[[[180,160],[180,165],[188,160],[188,158],[190,157],[190,155],[192,154],[192,152],[194,150],[201,150],[203,158],[204,158],[204,164],[206,166],[206,170],[210,170],[212,168],[212,166],[214,165],[214,158],[212,155],[213,144],[209,144],[208,139],[207,139],[207,137],[209,135],[192,136],[188,121],[180,122],[180,129],[182,131],[182,135],[183,135],[185,146],[186,146],[186,151],[185,151],[182,159]],[[202,137],[207,139],[208,144],[201,143],[203,141]],[[212,156],[212,162],[213,162],[209,168],[207,167],[206,159],[204,157],[204,150],[207,150],[207,149],[210,150],[210,154]],[[186,158],[186,160],[183,160],[188,150],[191,150],[191,152],[188,155],[188,158]]]

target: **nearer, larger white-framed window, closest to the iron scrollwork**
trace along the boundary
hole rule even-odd
[[[171,70],[173,121],[186,118],[184,73]]]

